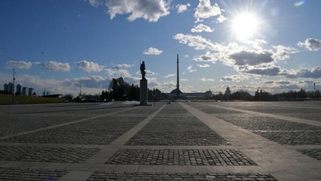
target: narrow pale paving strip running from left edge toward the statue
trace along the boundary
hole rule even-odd
[[[27,135],[27,134],[30,134],[30,133],[36,133],[36,132],[40,132],[40,131],[44,131],[44,130],[49,130],[49,129],[58,128],[58,127],[66,126],[66,125],[71,125],[71,124],[75,124],[75,123],[80,123],[80,122],[83,122],[83,121],[88,121],[88,120],[92,120],[92,119],[96,119],[96,118],[108,116],[108,115],[111,115],[111,114],[116,114],[116,113],[124,112],[124,111],[130,110],[130,109],[135,109],[135,108],[137,108],[137,107],[138,107],[138,106],[136,106],[136,107],[130,107],[130,108],[128,108],[128,109],[124,109],[124,110],[120,110],[120,111],[116,111],[116,112],[111,112],[111,113],[107,113],[107,114],[101,114],[101,115],[99,115],[99,116],[94,116],[94,117],[90,117],[90,118],[80,119],[80,120],[77,120],[77,121],[72,121],[72,122],[68,122],[68,123],[62,123],[62,124],[59,124],[59,125],[48,126],[48,127],[44,127],[44,128],[40,128],[40,129],[36,129],[36,130],[30,130],[30,131],[26,131],[26,132],[21,132],[21,133],[17,133],[17,134],[11,134],[11,135],[6,135],[6,136],[1,136],[1,137],[0,137],[0,141],[1,141],[1,139],[7,139],[7,138],[10,138],[10,137],[14,137],[14,136]]]

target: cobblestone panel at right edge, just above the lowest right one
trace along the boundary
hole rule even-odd
[[[321,131],[253,132],[283,145],[321,144]]]

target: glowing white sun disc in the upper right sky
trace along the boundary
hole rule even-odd
[[[232,29],[237,39],[248,40],[258,32],[259,21],[255,14],[242,13],[232,20]]]

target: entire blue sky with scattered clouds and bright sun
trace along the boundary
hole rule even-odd
[[[321,89],[320,0],[0,0],[0,84],[99,93]]]

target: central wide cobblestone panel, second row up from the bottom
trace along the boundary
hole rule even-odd
[[[121,149],[106,164],[121,165],[256,165],[237,150]]]

